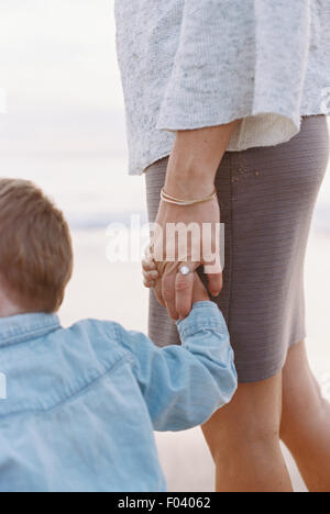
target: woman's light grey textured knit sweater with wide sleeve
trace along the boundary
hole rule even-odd
[[[178,130],[242,120],[243,150],[329,108],[330,0],[117,0],[116,19],[132,175]]]

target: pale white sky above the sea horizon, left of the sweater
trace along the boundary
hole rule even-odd
[[[113,0],[1,1],[2,155],[125,150],[114,40]]]

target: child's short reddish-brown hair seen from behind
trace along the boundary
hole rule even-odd
[[[73,273],[63,213],[32,182],[0,179],[0,280],[26,312],[58,311]]]

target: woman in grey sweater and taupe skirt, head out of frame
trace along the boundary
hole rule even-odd
[[[208,278],[240,386],[204,427],[217,490],[290,492],[282,439],[309,490],[329,491],[330,405],[307,361],[302,278],[329,153],[329,1],[118,0],[116,11],[130,171],[146,170],[151,221],[215,225],[220,205],[226,224],[223,286]],[[193,273],[158,269],[167,310],[151,297],[151,337],[177,344]]]

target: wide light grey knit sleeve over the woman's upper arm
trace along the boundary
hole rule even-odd
[[[294,135],[309,30],[309,0],[185,0],[157,128],[191,130],[273,114]]]

